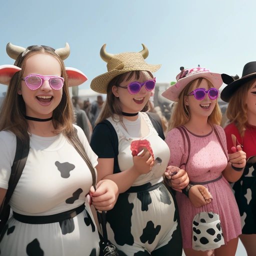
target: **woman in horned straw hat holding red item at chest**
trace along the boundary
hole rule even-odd
[[[120,192],[106,213],[109,240],[125,255],[181,255],[175,201],[162,183],[169,149],[141,112],[155,85],[152,72],[160,67],[147,64],[147,55],[145,45],[140,52],[119,54],[107,53],[105,44],[101,47],[108,71],[90,86],[106,93],[106,101],[91,147],[99,157],[99,178],[112,179]],[[178,189],[188,184],[185,171],[173,176],[173,184]]]

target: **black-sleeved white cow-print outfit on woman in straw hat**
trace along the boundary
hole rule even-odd
[[[168,146],[158,136],[146,113],[139,112],[135,121],[123,118],[125,128],[116,119],[118,117],[107,118],[114,132],[105,123],[99,123],[91,137],[91,147],[99,158],[114,158],[114,173],[133,165],[130,150],[133,139],[147,139],[154,158],[161,160],[150,172],[141,174],[126,192],[120,193],[114,208],[107,211],[108,238],[119,249],[119,255],[148,256],[154,251],[154,255],[159,256],[181,256],[182,243],[176,205],[162,183],[162,175],[169,160]],[[144,137],[139,137],[141,119],[149,129]],[[116,134],[118,155],[113,141]],[[104,141],[104,147],[100,141]]]

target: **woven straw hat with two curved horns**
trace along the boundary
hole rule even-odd
[[[150,65],[144,60],[148,56],[148,49],[142,43],[143,49],[140,52],[123,52],[119,54],[111,54],[105,51],[104,44],[100,49],[100,57],[107,62],[107,72],[96,76],[92,79],[90,87],[99,93],[106,93],[108,83],[118,74],[126,73],[134,70],[157,71],[161,65]]]

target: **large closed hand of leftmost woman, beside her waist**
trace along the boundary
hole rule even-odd
[[[118,187],[110,179],[102,179],[96,184],[96,191],[93,186],[90,188],[91,203],[97,210],[110,210],[113,208],[117,197]]]

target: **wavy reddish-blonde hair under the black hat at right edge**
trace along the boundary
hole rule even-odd
[[[244,136],[245,126],[248,121],[247,116],[247,94],[251,85],[256,81],[256,78],[245,82],[231,96],[226,109],[226,117],[230,122],[233,122],[237,127],[241,137]]]

